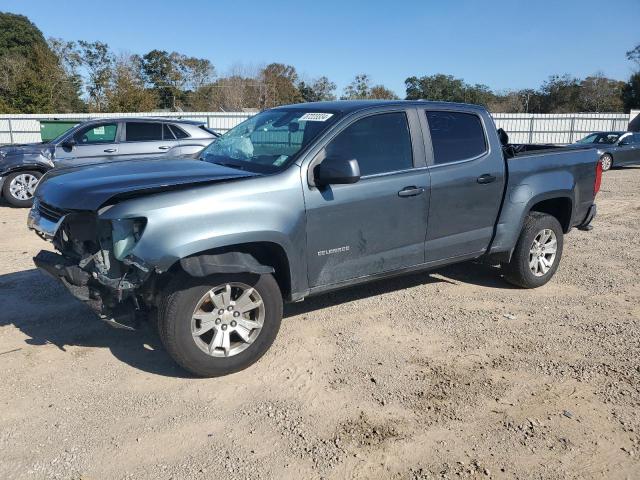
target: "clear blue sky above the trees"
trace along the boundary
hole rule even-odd
[[[0,11],[116,53],[177,51],[222,75],[286,63],[338,93],[367,73],[401,97],[407,77],[436,73],[498,91],[556,73],[626,80],[640,43],[640,0],[0,0]]]

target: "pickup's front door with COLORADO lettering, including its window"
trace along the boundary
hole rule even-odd
[[[305,189],[311,287],[424,262],[429,175],[414,168],[405,111],[356,120],[311,163],[355,158],[361,179]]]

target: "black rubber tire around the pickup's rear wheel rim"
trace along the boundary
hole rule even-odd
[[[531,248],[534,239],[545,229],[552,230],[556,236],[556,254],[549,270],[537,276],[529,266]],[[513,251],[511,260],[503,264],[504,278],[509,283],[522,288],[541,287],[547,283],[558,270],[562,258],[563,233],[560,222],[555,217],[540,212],[531,212],[527,215],[518,238],[518,243]]]

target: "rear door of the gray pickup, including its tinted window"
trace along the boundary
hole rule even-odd
[[[505,184],[502,150],[486,134],[493,122],[475,111],[425,109],[420,118],[431,175],[426,261],[477,255],[493,236]]]

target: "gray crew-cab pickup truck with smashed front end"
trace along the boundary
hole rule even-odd
[[[473,259],[524,288],[589,229],[592,149],[514,153],[482,107],[327,102],[267,110],[200,160],[49,172],[28,224],[36,265],[114,326],[154,318],[199,376],[270,347],[283,301]]]

